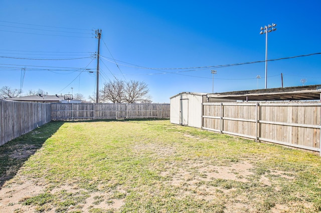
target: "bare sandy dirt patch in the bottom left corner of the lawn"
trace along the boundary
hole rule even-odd
[[[22,180],[15,182],[14,180],[8,181],[4,187],[0,190],[0,212],[35,212],[36,209],[33,205],[24,205],[23,200],[27,198],[39,195],[45,191],[51,194],[59,194],[61,191],[64,193],[88,193],[89,196],[83,202],[76,206],[70,205],[67,212],[73,210],[81,210],[82,212],[88,212],[90,209],[104,209],[104,210],[117,210],[124,203],[124,196],[126,191],[117,187],[115,190],[108,192],[95,191],[89,192],[82,188],[79,188],[76,184],[73,185],[60,185],[51,188],[50,184],[41,183],[41,180]],[[35,183],[38,182],[38,183]],[[51,188],[51,189],[48,189]],[[115,195],[116,194],[116,195]],[[118,197],[117,197],[118,194]],[[119,197],[119,194],[121,196]],[[49,205],[45,212],[55,212],[56,207]]]

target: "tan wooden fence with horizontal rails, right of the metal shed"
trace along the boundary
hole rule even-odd
[[[256,141],[320,151],[318,102],[202,104],[202,128]]]

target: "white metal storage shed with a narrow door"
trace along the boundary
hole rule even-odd
[[[206,94],[181,92],[171,97],[171,123],[201,128],[203,96],[206,98]]]

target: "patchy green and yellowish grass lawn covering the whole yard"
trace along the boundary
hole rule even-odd
[[[0,159],[0,212],[321,211],[319,156],[169,120],[50,122]]]

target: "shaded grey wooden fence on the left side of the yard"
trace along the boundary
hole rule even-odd
[[[50,103],[0,100],[0,145],[51,121]]]

